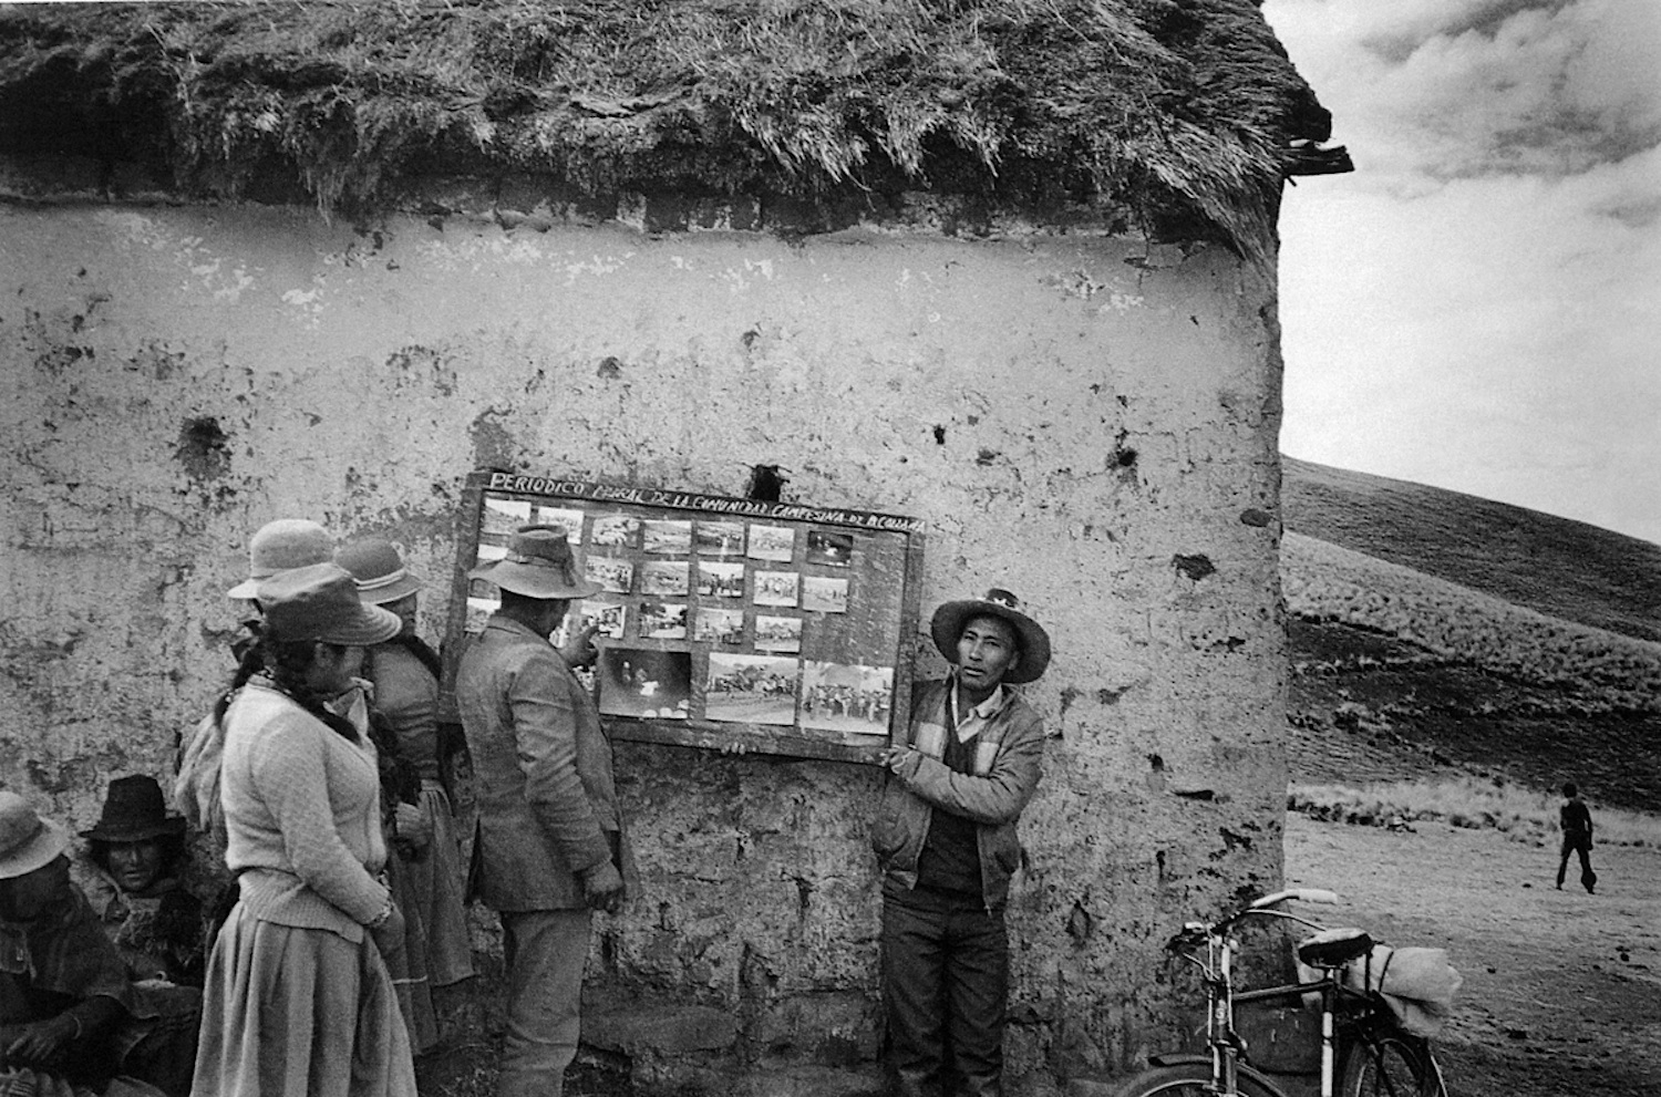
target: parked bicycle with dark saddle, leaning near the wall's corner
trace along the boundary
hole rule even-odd
[[[1447,1097],[1442,1069],[1430,1042],[1402,1029],[1375,991],[1345,986],[1352,964],[1364,964],[1364,987],[1372,987],[1374,939],[1364,929],[1325,929],[1299,914],[1276,909],[1281,903],[1337,903],[1330,891],[1297,888],[1267,895],[1222,919],[1191,921],[1166,948],[1196,964],[1206,984],[1206,1046],[1209,1054],[1149,1056],[1149,1069],[1131,1077],[1116,1097],[1286,1097],[1251,1065],[1251,1049],[1234,1027],[1234,1006],[1244,1001],[1320,996],[1320,1095],[1322,1097]],[[1319,979],[1257,991],[1234,991],[1234,928],[1247,918],[1282,918],[1317,933],[1297,946],[1297,958],[1320,973]],[[1196,953],[1204,946],[1206,958]]]

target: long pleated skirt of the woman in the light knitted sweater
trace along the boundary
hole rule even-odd
[[[193,1092],[415,1097],[415,1064],[374,941],[238,906],[208,963]]]

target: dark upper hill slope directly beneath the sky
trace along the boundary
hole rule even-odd
[[[1661,544],[1405,480],[1284,458],[1286,528],[1551,617],[1661,641]]]

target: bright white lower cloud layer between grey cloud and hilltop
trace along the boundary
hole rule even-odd
[[[1596,212],[1658,173],[1289,194],[1286,451],[1661,541],[1661,234]]]

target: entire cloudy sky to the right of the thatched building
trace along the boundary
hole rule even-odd
[[[1281,211],[1281,448],[1661,541],[1661,2],[1262,10],[1355,161]]]

